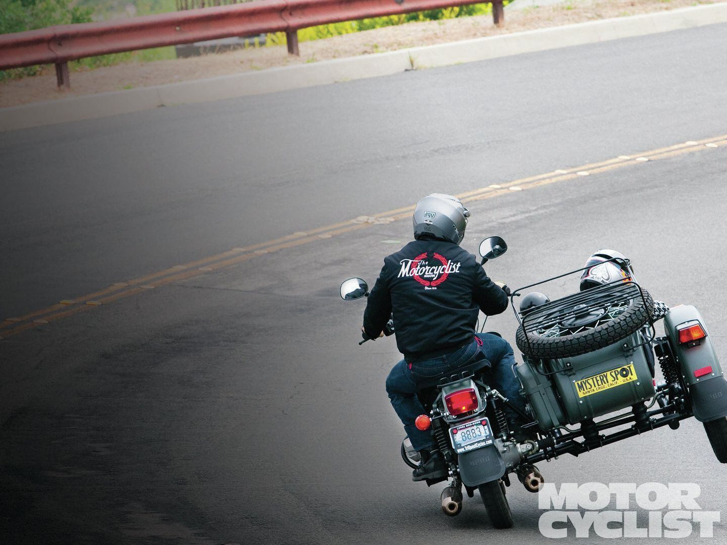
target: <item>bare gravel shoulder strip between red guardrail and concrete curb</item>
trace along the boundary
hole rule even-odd
[[[286,47],[241,49],[216,55],[203,55],[155,62],[125,64],[71,73],[70,91],[55,86],[52,66],[39,76],[5,81],[0,84],[0,107],[43,100],[75,97],[99,92],[175,83],[249,70],[318,62],[356,55],[371,55],[407,47],[441,44],[483,36],[513,33],[558,25],[583,23],[610,17],[627,17],[662,12],[717,1],[694,0],[571,0],[562,4],[507,9],[505,25],[497,28],[490,15],[458,19],[407,23],[371,31],[300,43],[300,57],[287,54]]]

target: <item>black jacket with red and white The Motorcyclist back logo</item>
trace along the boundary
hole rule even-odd
[[[478,260],[457,244],[413,241],[384,259],[369,294],[364,331],[376,339],[391,312],[396,345],[404,357],[452,350],[473,339],[479,310],[507,308],[507,295]]]

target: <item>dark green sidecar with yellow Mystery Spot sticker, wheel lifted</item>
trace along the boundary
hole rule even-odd
[[[656,337],[661,318],[666,335]],[[619,279],[521,309],[518,320],[523,364],[516,371],[543,437],[529,462],[578,456],[662,426],[677,429],[694,416],[727,463],[727,381],[695,307],[657,313],[644,288]]]

